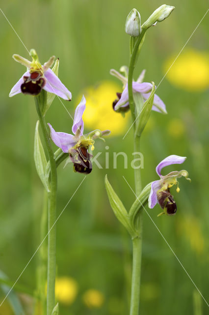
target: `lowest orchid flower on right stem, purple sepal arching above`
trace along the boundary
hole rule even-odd
[[[158,203],[160,207],[163,209],[162,214],[166,214],[168,216],[175,215],[177,211],[177,205],[170,193],[170,188],[174,185],[177,185],[176,191],[179,192],[179,182],[178,179],[180,177],[185,177],[187,180],[191,181],[188,178],[188,172],[185,170],[181,171],[173,171],[165,176],[161,174],[161,169],[165,166],[171,164],[182,164],[185,161],[186,157],[179,157],[176,155],[169,156],[164,158],[156,167],[157,175],[159,175],[160,179],[152,182],[151,191],[149,195],[149,208],[154,208]]]

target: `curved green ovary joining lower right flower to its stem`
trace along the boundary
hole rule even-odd
[[[139,211],[142,210],[142,208],[146,205],[149,195],[150,195],[150,190],[151,190],[151,184],[149,183],[140,193],[138,198],[133,202],[131,209],[129,211],[129,217],[130,217],[130,222],[131,225],[133,226],[134,229],[137,229],[137,216],[139,214]]]

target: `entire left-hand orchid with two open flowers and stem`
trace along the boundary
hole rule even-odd
[[[57,171],[56,168],[61,161],[67,156],[70,157],[74,164],[75,172],[89,174],[92,171],[92,163],[89,153],[94,150],[95,139],[103,139],[103,136],[108,135],[110,130],[93,130],[87,134],[83,134],[84,123],[82,119],[83,112],[86,108],[86,100],[84,95],[78,104],[72,126],[72,134],[65,132],[56,132],[51,124],[48,124],[49,130],[45,121],[45,114],[50,108],[52,101],[57,95],[65,100],[71,100],[71,92],[59,80],[58,74],[58,59],[52,56],[48,62],[43,65],[39,62],[38,55],[34,49],[30,50],[32,61],[19,56],[13,55],[15,61],[26,66],[27,70],[19,81],[12,88],[9,96],[14,96],[20,93],[34,96],[35,105],[39,121],[35,128],[34,141],[34,160],[37,173],[47,191],[48,198],[48,276],[47,276],[47,315],[58,315],[58,304],[55,305],[55,248],[56,248],[56,232],[54,220],[56,217],[56,194],[57,194]],[[53,65],[51,69],[51,66]],[[42,128],[43,138],[45,141],[45,150],[48,153],[49,160],[45,155],[45,150],[42,145],[39,135],[39,123]],[[51,140],[59,149],[53,153]],[[103,139],[104,140],[104,139]],[[54,220],[53,220],[54,219]],[[44,237],[44,236],[43,236]],[[45,297],[42,297],[43,300]],[[44,304],[44,303],[43,303]],[[45,305],[42,305],[43,310]]]

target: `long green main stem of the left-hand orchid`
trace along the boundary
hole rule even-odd
[[[46,126],[45,119],[41,112],[41,104],[38,97],[35,97],[36,110],[38,113],[43,137],[48,152],[51,167],[51,185],[48,193],[48,272],[47,272],[47,315],[52,314],[55,306],[54,286],[55,286],[55,270],[56,270],[56,228],[53,226],[56,220],[56,191],[57,191],[57,175],[56,163],[53,156],[51,141]],[[52,227],[53,226],[53,227]]]

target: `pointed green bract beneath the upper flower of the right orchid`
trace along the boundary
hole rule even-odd
[[[155,83],[153,82],[153,87],[152,87],[150,97],[144,103],[144,106],[142,107],[141,112],[136,122],[135,135],[138,137],[141,136],[142,131],[144,130],[144,127],[147,125],[147,122],[150,118],[150,113],[153,107],[153,101],[154,101],[154,96],[155,96],[155,90],[156,90]]]

